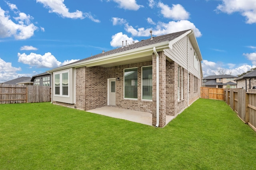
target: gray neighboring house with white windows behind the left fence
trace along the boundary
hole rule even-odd
[[[52,77],[48,72],[43,72],[41,74],[32,76],[31,82],[34,82],[34,86],[51,86]]]

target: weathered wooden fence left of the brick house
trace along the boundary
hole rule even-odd
[[[0,84],[0,104],[50,101],[50,86],[18,86]]]

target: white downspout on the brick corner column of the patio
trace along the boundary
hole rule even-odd
[[[156,47],[153,48],[156,55],[156,127],[159,126],[159,55]]]

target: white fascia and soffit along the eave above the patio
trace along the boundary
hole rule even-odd
[[[147,53],[151,55],[153,53],[153,47],[156,47],[156,51],[162,51],[163,49],[169,48],[169,41],[164,41],[161,43],[156,43],[156,44],[148,45],[145,47],[140,47],[140,48],[136,48],[136,49],[132,49],[132,50],[128,50],[128,51],[123,51],[120,53],[106,55],[103,57],[98,57],[95,59],[90,59],[90,60],[86,60],[86,61],[82,61],[82,62],[78,62],[78,63],[74,63],[74,64],[68,64],[66,66],[60,66],[60,67],[54,68],[52,70],[48,70],[48,72],[55,72],[58,70],[63,70],[63,69],[72,68],[72,67],[78,68],[78,67],[82,67],[82,66],[89,66],[89,65],[92,66],[92,64],[97,65],[97,64],[112,63],[112,62],[116,62],[120,59],[124,60],[127,57],[129,57],[129,59],[133,59],[135,57],[142,56]]]

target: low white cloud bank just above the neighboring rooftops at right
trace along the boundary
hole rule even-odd
[[[203,76],[211,76],[211,75],[218,75],[218,70],[226,70],[226,74],[230,74],[237,76],[238,74],[242,74],[244,72],[249,71],[251,68],[255,68],[256,65],[248,65],[243,64],[241,66],[236,67],[236,64],[228,63],[223,64],[221,62],[214,63],[212,61],[203,60],[202,61],[202,69],[203,69]]]

